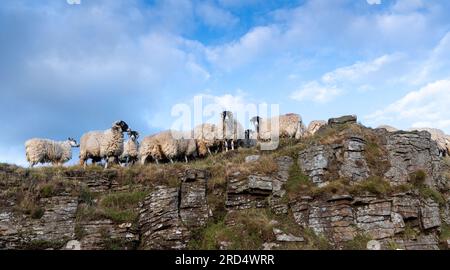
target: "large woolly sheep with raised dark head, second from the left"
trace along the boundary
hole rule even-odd
[[[85,133],[80,141],[80,165],[86,167],[90,158],[92,163],[105,159],[105,169],[110,160],[117,162],[123,152],[123,132],[128,132],[127,123],[116,121],[104,131]]]

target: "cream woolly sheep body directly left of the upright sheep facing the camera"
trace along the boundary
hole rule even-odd
[[[201,157],[211,155],[211,149],[220,146],[217,126],[214,124],[204,123],[196,126],[194,128],[194,139],[197,142],[198,155]]]

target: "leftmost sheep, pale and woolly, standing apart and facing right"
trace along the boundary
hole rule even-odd
[[[61,166],[72,158],[72,147],[78,146],[73,138],[66,141],[35,138],[25,142],[25,152],[31,168],[38,163]]]

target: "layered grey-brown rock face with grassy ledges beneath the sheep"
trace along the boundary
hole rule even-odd
[[[330,119],[320,132],[291,156],[268,155],[273,164],[262,164],[274,170],[227,164],[218,184],[198,169],[130,184],[135,176],[115,169],[36,176],[0,167],[0,249],[188,249],[209,226],[232,238],[228,230],[241,228],[252,210],[269,219],[259,216],[261,228],[253,228],[265,232],[260,249],[309,248],[310,232],[335,249],[355,239],[362,248],[368,240],[381,249],[443,248],[449,168],[428,132],[368,129],[352,116]],[[260,164],[267,156],[241,160]],[[61,185],[49,192],[36,177]],[[371,186],[379,181],[389,189]],[[336,182],[345,188],[334,190]],[[220,241],[217,248],[235,247]]]

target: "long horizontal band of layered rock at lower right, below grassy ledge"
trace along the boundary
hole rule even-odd
[[[336,196],[325,202],[297,199],[291,202],[291,210],[298,225],[335,243],[349,241],[358,233],[371,239],[403,239],[406,224],[435,236],[441,226],[436,203],[407,194],[385,199]],[[415,242],[402,243],[413,249]]]

